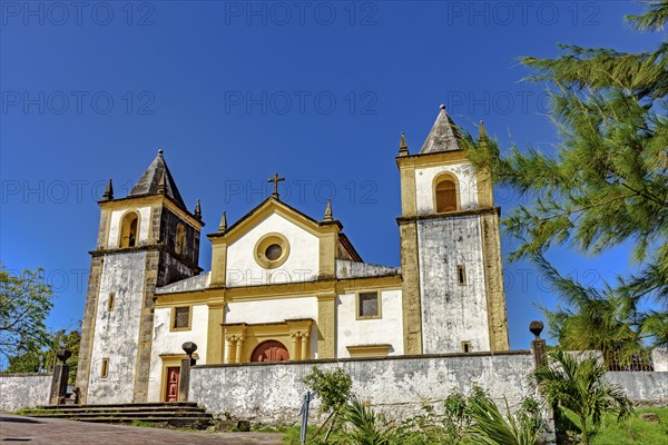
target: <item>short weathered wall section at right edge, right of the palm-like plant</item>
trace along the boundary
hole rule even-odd
[[[627,397],[637,404],[668,404],[668,373],[610,372],[606,373],[606,378],[621,385]]]

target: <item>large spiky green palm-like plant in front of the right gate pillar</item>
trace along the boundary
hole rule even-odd
[[[550,352],[549,357],[556,366],[538,367],[533,383],[548,403],[578,417],[584,444],[606,413],[616,413],[618,419],[632,413],[623,389],[606,380],[606,368],[596,357],[579,360],[563,350]]]

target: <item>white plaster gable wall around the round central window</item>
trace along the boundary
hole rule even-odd
[[[275,269],[255,261],[255,245],[265,235],[278,233],[289,243],[289,256]],[[272,214],[227,247],[227,286],[258,286],[311,281],[320,268],[320,240],[284,217]]]

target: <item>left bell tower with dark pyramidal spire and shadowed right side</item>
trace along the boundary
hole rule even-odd
[[[77,386],[82,403],[147,400],[155,288],[191,277],[204,224],[190,212],[163,150],[125,198],[111,180],[99,201],[100,225],[82,323]]]

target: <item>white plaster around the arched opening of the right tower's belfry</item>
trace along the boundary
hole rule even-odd
[[[442,172],[450,172],[456,177],[461,209],[466,210],[478,208],[478,180],[475,178],[475,168],[471,162],[463,162],[415,169],[415,200],[418,214],[435,212],[434,178]]]

